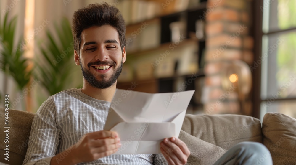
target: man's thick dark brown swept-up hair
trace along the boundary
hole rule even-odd
[[[78,9],[73,14],[72,33],[74,39],[74,49],[79,54],[81,32],[93,26],[110,25],[114,27],[118,34],[121,50],[126,45],[126,26],[120,11],[106,2],[102,4],[89,4],[84,8]]]

